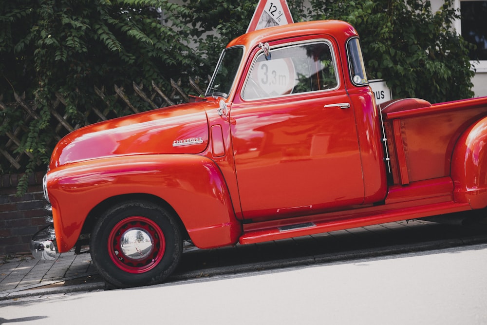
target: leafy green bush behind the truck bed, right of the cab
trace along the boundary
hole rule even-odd
[[[468,44],[453,29],[458,12],[445,0],[311,0],[310,19],[350,22],[360,35],[370,79],[385,79],[395,98],[432,103],[473,96]]]

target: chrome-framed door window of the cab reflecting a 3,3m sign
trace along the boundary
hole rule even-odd
[[[245,100],[336,89],[337,69],[327,41],[292,45],[259,54],[242,92]]]

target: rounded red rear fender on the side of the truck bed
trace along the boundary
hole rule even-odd
[[[455,202],[472,209],[487,206],[487,117],[473,123],[458,139],[451,161]]]

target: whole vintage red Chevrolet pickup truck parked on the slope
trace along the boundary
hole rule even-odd
[[[32,251],[89,241],[116,287],[154,284],[188,241],[272,241],[487,206],[487,97],[375,104],[355,29],[272,27],[232,40],[197,102],[76,130]]]

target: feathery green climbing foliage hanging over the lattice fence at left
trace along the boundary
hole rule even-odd
[[[10,123],[3,124],[0,135],[18,126],[28,129],[18,149],[34,156],[25,166],[27,174],[45,168],[52,152],[49,108],[56,94],[66,99],[65,118],[72,125],[84,125],[85,108],[99,105],[94,86],[131,89],[132,81],[150,87],[154,80],[169,90],[170,78],[191,73],[189,29],[177,18],[185,11],[167,0],[1,1],[2,101],[25,92],[38,116],[26,124],[19,112],[3,111],[0,118]],[[131,102],[140,111],[150,109],[138,96]],[[118,115],[130,113],[113,105]],[[4,172],[13,171],[0,166]],[[25,189],[26,178],[20,185]]]

